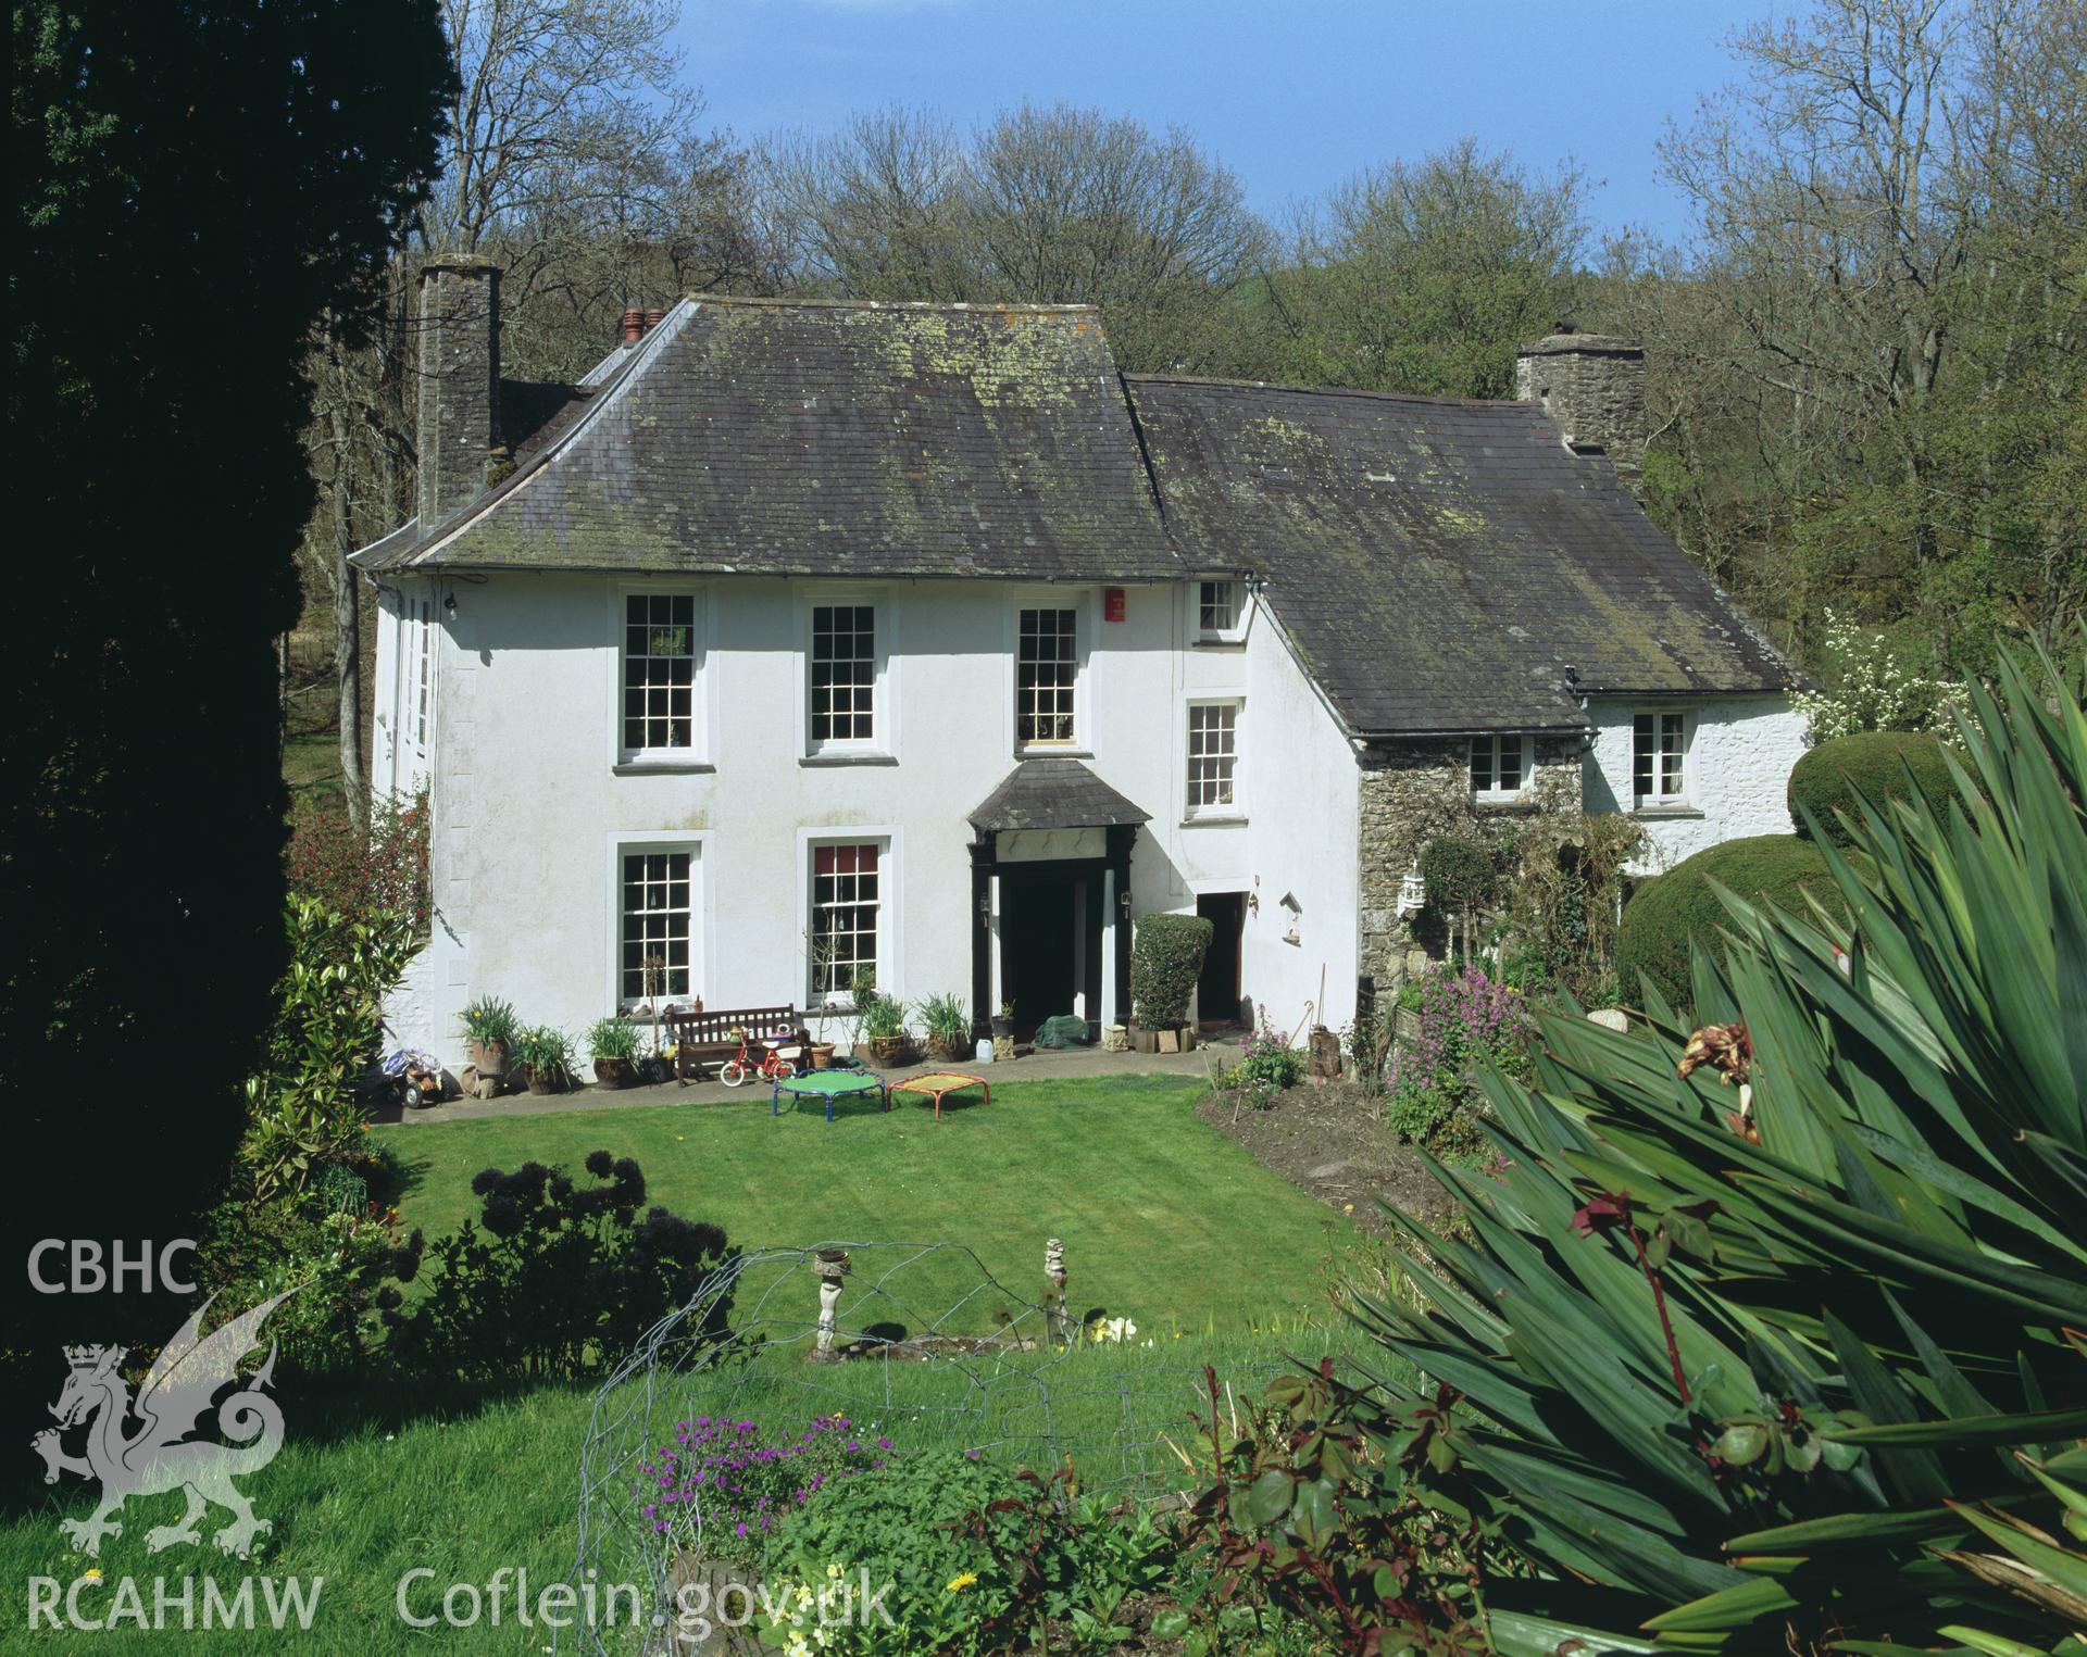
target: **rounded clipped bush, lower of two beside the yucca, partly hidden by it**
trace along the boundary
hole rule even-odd
[[[1826,856],[1797,835],[1751,835],[1684,858],[1624,908],[1615,975],[1626,998],[1636,998],[1642,972],[1676,1006],[1688,1002],[1688,939],[1713,945],[1718,929],[1730,927],[1730,910],[1711,881],[1749,904],[1766,899],[1799,918],[1812,914],[1801,895],[1805,887],[1820,897],[1834,891]]]

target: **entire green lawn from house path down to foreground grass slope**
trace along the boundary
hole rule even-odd
[[[1286,1363],[1286,1352],[1317,1356],[1354,1350],[1350,1327],[1334,1323],[1321,1290],[1329,1250],[1327,1210],[1267,1173],[1246,1152],[1194,1114],[1198,1087],[1175,1079],[1112,1077],[1094,1081],[1004,1083],[993,1104],[945,1114],[897,1106],[841,1116],[768,1114],[766,1096],[726,1104],[632,1106],[616,1110],[497,1116],[470,1123],[409,1123],[378,1129],[411,1175],[403,1200],[409,1223],[440,1233],[474,1210],[472,1175],[536,1158],[578,1169],[605,1148],[634,1156],[651,1200],[680,1215],[710,1219],[747,1248],[824,1240],[960,1242],[960,1254],[933,1254],[908,1267],[893,1292],[933,1313],[981,1286],[958,1325],[979,1331],[995,1311],[1021,1311],[1041,1298],[1044,1240],[1062,1238],[1071,1265],[1071,1304],[1127,1315],[1137,1336],[1125,1346],[1083,1346],[973,1359],[964,1365],[854,1363],[808,1367],[799,1348],[770,1348],[728,1373],[657,1377],[611,1400],[601,1421],[618,1423],[603,1484],[622,1503],[616,1473],[630,1452],[664,1442],[674,1419],[733,1413],[764,1432],[801,1425],[841,1409],[874,1421],[897,1448],[981,1448],[1008,1463],[1041,1465],[1073,1455],[1089,1488],[1154,1482],[1190,1484],[1192,1475],[1162,1442],[1188,1442],[1200,1367],[1244,1396]],[[584,1177],[584,1175],[582,1175]],[[879,1258],[868,1250],[866,1260]],[[870,1273],[864,1273],[870,1275]],[[801,1279],[785,1279],[787,1317]],[[889,1304],[851,1286],[843,1331]],[[741,1288],[739,1315],[760,1286]],[[741,1319],[743,1321],[743,1319]],[[1146,1346],[1146,1340],[1152,1346]],[[96,1649],[144,1649],[146,1640],[184,1640],[194,1651],[342,1651],[409,1653],[432,1644],[451,1651],[538,1653],[549,1630],[409,1628],[397,1609],[407,1571],[430,1569],[407,1588],[407,1609],[436,1609],[449,1584],[486,1584],[507,1567],[526,1567],[532,1592],[563,1580],[578,1553],[580,1457],[597,1419],[593,1388],[536,1388],[486,1402],[449,1402],[386,1388],[321,1409],[305,1404],[288,1421],[280,1457],[242,1484],[273,1534],[253,1563],[209,1551],[146,1551],[146,1532],[177,1517],[173,1496],[136,1498],[127,1528],[98,1561],[71,1553],[61,1515],[92,1503],[79,1482],[0,1523],[0,1582],[54,1578],[63,1586],[90,1565],[102,1584],[79,1601],[83,1617],[109,1617],[115,1584],[138,1584],[152,1615],[154,1578],[179,1594],[211,1576],[234,1592],[246,1576],[323,1578],[319,1611],[305,1634],[142,1632],[119,1624],[94,1634]],[[213,1517],[213,1526],[221,1515]],[[620,1576],[628,1551],[603,1551],[605,1576]],[[511,1576],[509,1576],[511,1580]],[[434,1584],[432,1588],[428,1584]],[[69,1651],[90,1636],[71,1628],[23,1638],[25,1601],[0,1603],[0,1644]]]

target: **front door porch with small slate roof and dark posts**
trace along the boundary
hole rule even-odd
[[[1000,787],[970,812],[970,899],[979,924],[970,933],[973,1029],[985,1035],[993,1012],[993,883],[1000,881],[1000,981],[1006,998],[1021,998],[1012,985],[1037,970],[1037,958],[1056,943],[1050,933],[1031,931],[1018,912],[1066,916],[1058,902],[1073,893],[1071,972],[1064,1006],[1046,1002],[1041,1012],[1064,1012],[1071,995],[1085,995],[1089,1039],[1102,1033],[1102,935],[1108,931],[1114,972],[1114,1023],[1131,1016],[1131,847],[1137,824],[1152,812],[1125,799],[1079,760],[1021,760]],[[1006,839],[1002,839],[1006,837]],[[1052,893],[1046,899],[1044,887]],[[1027,893],[1027,897],[1018,897]],[[1039,902],[1041,899],[1041,902]],[[1039,947],[1041,945],[1041,947]],[[1031,995],[1033,1000],[1033,995]],[[1056,1000],[1056,985],[1048,991]],[[1035,1006],[1021,1008],[1037,1012]]]

